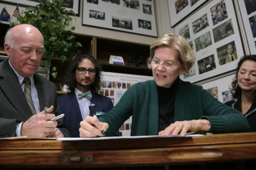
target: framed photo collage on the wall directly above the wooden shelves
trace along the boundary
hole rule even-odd
[[[82,25],[157,37],[153,0],[83,0]]]

